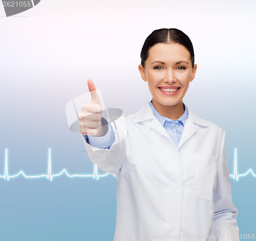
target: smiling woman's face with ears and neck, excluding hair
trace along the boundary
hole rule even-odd
[[[157,43],[148,51],[143,65],[139,70],[148,83],[152,104],[161,115],[178,119],[184,112],[183,97],[197,70],[196,64],[192,67],[189,52],[179,43]]]

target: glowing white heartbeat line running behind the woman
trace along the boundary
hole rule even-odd
[[[237,149],[235,148],[234,149],[233,175],[229,175],[229,176],[232,177],[233,179],[236,179],[236,181],[239,180],[239,177],[247,176],[249,173],[251,173],[251,175],[253,177],[256,177],[256,175],[253,173],[251,168],[246,173],[238,175],[238,166],[237,165],[238,165],[238,163],[237,163]],[[20,175],[23,175],[25,178],[47,178],[50,181],[52,181],[53,177],[59,177],[62,174],[66,174],[66,176],[68,176],[70,178],[74,178],[74,177],[78,177],[78,178],[93,177],[94,179],[97,179],[97,180],[99,179],[99,177],[105,177],[105,176],[109,175],[109,173],[99,175],[98,174],[98,167],[97,167],[96,164],[94,164],[94,173],[93,174],[74,174],[74,175],[70,175],[65,168],[58,174],[52,174],[51,149],[50,148],[49,148],[49,152],[48,152],[48,173],[47,174],[37,175],[37,176],[28,176],[28,175],[25,175],[25,173],[23,171],[20,171],[19,173],[15,174],[15,175],[9,175],[9,171],[8,171],[8,150],[5,149],[5,173],[4,173],[4,175],[0,175],[0,178],[4,178],[5,180],[9,181],[11,178],[15,178],[15,177],[18,177]],[[111,175],[113,175],[113,174],[111,174]],[[116,177],[115,175],[113,175],[113,176]]]

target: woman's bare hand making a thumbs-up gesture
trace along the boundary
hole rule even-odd
[[[91,79],[88,80],[87,84],[92,102],[84,104],[78,114],[80,133],[83,135],[104,136],[108,132],[108,126],[101,121],[102,108],[99,95]]]

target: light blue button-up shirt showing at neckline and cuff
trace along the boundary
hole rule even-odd
[[[183,103],[184,113],[180,116],[179,119],[169,119],[165,116],[162,116],[159,114],[159,112],[155,109],[155,107],[152,104],[152,101],[150,101],[150,106],[153,111],[153,114],[156,116],[158,121],[161,123],[161,125],[164,127],[166,132],[169,134],[170,138],[175,143],[176,147],[178,147],[178,144],[180,142],[180,138],[187,120],[188,111],[186,105]],[[106,120],[103,118],[103,121],[106,122]],[[115,132],[111,125],[108,124],[108,133],[104,136],[87,136],[83,135],[84,139],[86,139],[86,142],[91,144],[92,147],[101,148],[101,149],[110,149],[112,144],[115,141]]]

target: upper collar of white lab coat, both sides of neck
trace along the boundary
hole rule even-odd
[[[209,124],[204,119],[199,118],[187,105],[188,117],[190,121],[200,126],[208,127]],[[152,109],[150,107],[150,102],[147,102],[134,116],[133,122],[139,123],[148,121],[150,119],[155,118]]]

